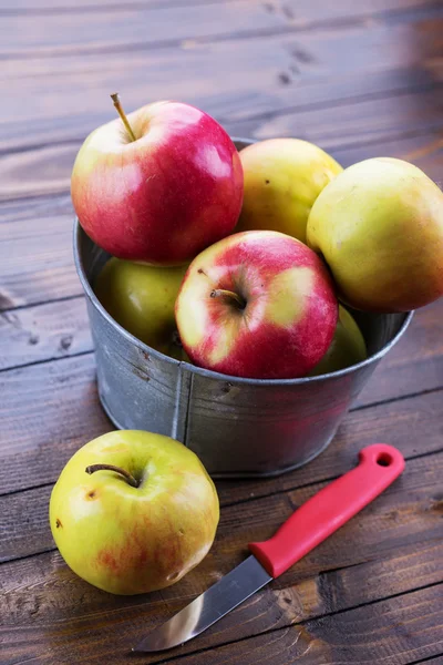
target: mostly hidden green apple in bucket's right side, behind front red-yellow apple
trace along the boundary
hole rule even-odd
[[[354,318],[339,305],[339,320],[329,349],[309,377],[330,374],[357,365],[368,357],[364,337]]]

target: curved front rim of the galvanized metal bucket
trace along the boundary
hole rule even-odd
[[[334,379],[334,378],[343,377],[348,374],[354,372],[359,368],[363,368],[369,365],[372,365],[373,362],[377,362],[379,359],[383,358],[383,356],[385,356],[388,354],[388,351],[404,335],[404,332],[406,331],[406,329],[412,320],[412,317],[414,315],[414,311],[404,313],[406,316],[405,316],[403,324],[401,325],[396,335],[394,335],[394,337],[392,337],[392,339],[390,339],[388,344],[385,344],[375,354],[372,354],[371,356],[369,356],[365,360],[362,360],[361,362],[351,365],[350,367],[347,367],[344,369],[340,369],[340,370],[332,371],[332,372],[324,374],[324,375],[318,375],[315,377],[300,377],[300,378],[295,378],[295,379],[248,379],[248,378],[244,378],[244,377],[235,377],[235,376],[230,376],[230,375],[224,375],[224,374],[213,371],[209,369],[204,369],[203,367],[197,367],[196,365],[190,365],[189,362],[185,362],[183,360],[176,360],[175,358],[171,358],[169,356],[166,356],[165,354],[162,354],[161,351],[157,351],[156,349],[150,347],[148,345],[146,345],[145,342],[140,340],[137,337],[134,337],[134,335],[128,332],[125,328],[123,328],[105,310],[103,305],[100,303],[99,298],[95,296],[94,290],[86,277],[86,274],[85,274],[85,270],[83,267],[82,257],[80,254],[81,236],[82,235],[86,236],[86,234],[83,231],[82,226],[80,225],[78,217],[75,217],[73,235],[74,235],[74,237],[73,237],[74,263],[75,263],[75,268],[76,268],[81,285],[82,285],[83,290],[86,294],[87,298],[92,303],[92,305],[100,311],[100,314],[107,320],[107,323],[111,326],[116,327],[119,329],[120,334],[123,335],[123,337],[125,337],[128,341],[131,341],[133,345],[135,345],[137,348],[140,348],[142,351],[148,354],[150,356],[153,356],[154,358],[169,362],[171,365],[181,366],[192,374],[196,374],[196,375],[212,378],[212,379],[224,380],[224,381],[233,382],[233,383],[235,382],[235,383],[254,385],[254,386],[299,386],[302,383],[315,383],[317,381],[323,381],[324,378]]]

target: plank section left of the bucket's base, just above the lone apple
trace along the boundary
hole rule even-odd
[[[0,377],[0,454],[8,467],[0,481],[2,491],[55,479],[60,458],[63,464],[81,444],[113,429],[99,406],[91,355]],[[16,482],[7,479],[10,473]]]

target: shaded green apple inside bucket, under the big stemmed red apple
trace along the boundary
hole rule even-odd
[[[186,268],[111,258],[95,280],[95,295],[117,324],[134,337],[166,356],[188,360],[174,317],[174,304]]]

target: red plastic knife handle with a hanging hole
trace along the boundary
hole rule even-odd
[[[267,573],[278,577],[381,494],[403,471],[404,458],[387,443],[368,446],[359,466],[303,503],[272,538],[249,543]]]

